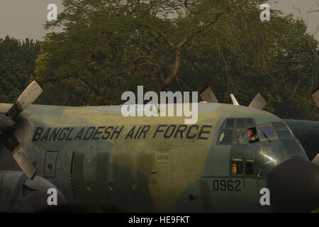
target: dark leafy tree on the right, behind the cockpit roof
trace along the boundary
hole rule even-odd
[[[264,35],[247,38],[245,28],[231,29],[229,35],[217,28],[224,32],[218,36],[223,41],[191,45],[181,64],[180,81],[194,90],[209,84],[224,103],[231,102],[229,94],[233,93],[240,104],[248,105],[262,92],[268,98],[267,111],[283,118],[318,120],[310,96],[318,86],[318,58],[311,48],[318,41],[306,33],[303,21],[291,16],[273,19],[278,21],[269,24],[274,35],[267,45],[259,45]]]

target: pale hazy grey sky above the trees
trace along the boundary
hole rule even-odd
[[[226,0],[225,0],[226,1]],[[319,3],[319,0],[317,0]],[[62,11],[62,0],[0,0],[0,38],[6,35],[15,38],[33,38],[42,40],[45,33],[43,24],[47,20],[48,4],[57,4],[57,11]],[[266,2],[266,1],[265,1]],[[319,9],[315,0],[276,0],[276,4],[271,4],[272,8],[280,9],[284,13],[293,13],[299,17],[299,12],[293,9],[301,9],[303,19],[307,21],[311,6]],[[308,31],[315,33],[319,26],[319,12],[310,13],[308,17]],[[319,31],[315,35],[319,40]]]

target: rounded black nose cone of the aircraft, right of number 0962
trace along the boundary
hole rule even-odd
[[[313,211],[319,207],[319,165],[293,157],[269,172],[267,187],[274,211]]]

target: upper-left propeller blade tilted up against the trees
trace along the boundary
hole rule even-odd
[[[6,112],[6,116],[10,116],[13,120],[15,120],[23,110],[30,106],[30,104],[32,104],[33,101],[40,96],[42,92],[43,89],[40,85],[33,81],[18,97],[16,103],[13,104],[9,111]]]

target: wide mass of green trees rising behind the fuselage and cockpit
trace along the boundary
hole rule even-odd
[[[233,93],[248,105],[258,92],[267,111],[318,120],[310,92],[318,84],[318,42],[303,21],[272,11],[260,21],[252,1],[65,0],[46,28],[36,77],[43,103],[121,104],[121,94],[200,90],[220,102]]]

